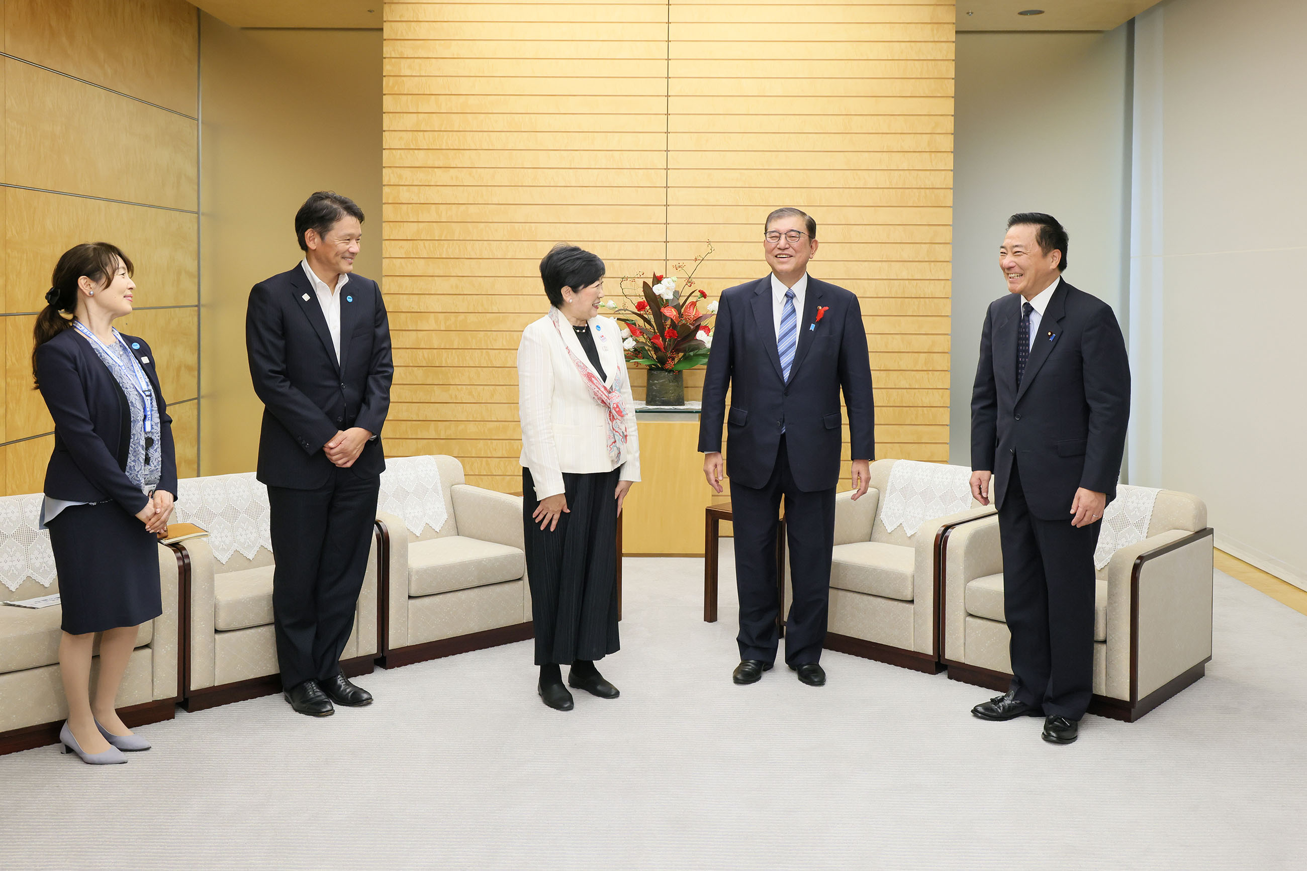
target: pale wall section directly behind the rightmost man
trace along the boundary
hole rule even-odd
[[[953,200],[950,462],[971,462],[971,383],[985,307],[1008,293],[1008,217],[1047,212],[1070,235],[1067,281],[1125,325],[1128,27],[959,33]]]

